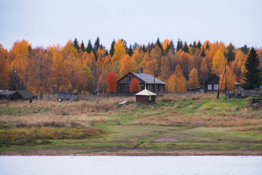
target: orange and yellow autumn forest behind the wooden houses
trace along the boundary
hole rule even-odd
[[[115,73],[117,79],[129,72],[155,75],[167,83],[166,91],[185,92],[186,89],[203,86],[212,74],[223,74],[227,65],[228,89],[234,90],[234,82],[242,81],[244,62],[249,53],[247,45],[236,48],[222,41],[176,42],[165,39],[145,44],[127,45],[124,39],[113,40],[109,49],[99,37],[92,44],[75,39],[64,46],[32,48],[27,40],[14,42],[8,51],[0,44],[0,89],[13,90],[14,76],[35,94],[51,91],[93,93],[97,88],[106,93],[107,76]],[[262,66],[262,49],[255,48]],[[15,73],[14,73],[15,72]],[[94,87],[95,81],[95,87]],[[224,85],[222,85],[222,88]]]

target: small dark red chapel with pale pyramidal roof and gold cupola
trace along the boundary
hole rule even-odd
[[[157,94],[145,89],[135,94],[137,103],[155,103]]]

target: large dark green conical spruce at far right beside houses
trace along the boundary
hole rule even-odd
[[[244,63],[245,70],[242,75],[243,83],[240,86],[244,90],[254,90],[262,83],[262,70],[259,67],[259,58],[256,50],[252,47],[248,53],[246,62]]]

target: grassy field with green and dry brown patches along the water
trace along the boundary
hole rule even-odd
[[[2,101],[0,155],[262,155],[262,110],[249,102],[216,94],[165,94],[155,104]]]

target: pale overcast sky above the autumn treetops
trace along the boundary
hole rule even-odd
[[[262,46],[261,0],[0,0],[0,44],[26,39],[47,47],[97,36],[108,50],[115,38],[148,44],[178,37],[188,44],[223,41]]]

